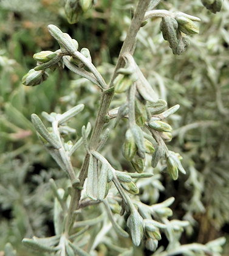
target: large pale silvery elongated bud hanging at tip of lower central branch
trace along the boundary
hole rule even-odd
[[[143,218],[137,211],[131,213],[127,220],[127,226],[131,231],[131,238],[135,246],[139,246],[143,236]]]

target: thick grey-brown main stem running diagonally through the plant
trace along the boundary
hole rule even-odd
[[[149,2],[151,2],[151,0],[138,1],[137,9],[134,13],[134,17],[132,18],[131,26],[129,27],[128,34],[126,35],[126,39],[123,42],[123,46],[121,47],[121,51],[118,56],[118,61],[115,66],[115,70],[114,70],[111,82],[109,84],[109,88],[113,86],[114,79],[117,76],[117,70],[119,68],[122,68],[125,65],[125,62],[123,60],[123,54],[125,54],[126,52],[128,52],[131,55],[134,54],[135,38],[137,36],[138,30],[141,27],[142,21],[144,20],[146,10],[148,9],[148,6],[149,6]],[[109,105],[111,104],[111,99],[113,94],[114,94],[114,90],[111,90],[111,89],[105,90],[101,94],[100,107],[98,108],[98,114],[95,119],[95,126],[92,130],[91,139],[89,141],[90,150],[92,149],[96,150],[98,147],[100,135],[103,131],[103,126],[106,123],[104,116],[106,116],[108,113]],[[86,153],[84,157],[83,165],[81,166],[81,169],[80,169],[80,175],[79,175],[80,184],[78,187],[83,187],[84,180],[87,177],[89,157],[90,155]],[[81,197],[81,190],[77,188],[73,188],[68,216],[66,220],[66,226],[65,226],[65,232],[67,235],[69,235],[70,233],[73,212],[78,208],[80,197]]]

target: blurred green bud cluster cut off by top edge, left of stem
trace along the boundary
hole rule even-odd
[[[89,10],[94,0],[65,0],[65,14],[70,24],[77,23],[80,15]]]

